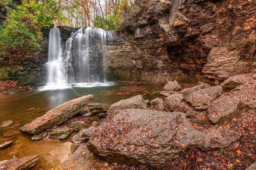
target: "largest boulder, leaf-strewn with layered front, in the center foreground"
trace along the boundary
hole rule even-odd
[[[184,113],[125,109],[93,133],[87,148],[104,161],[164,165],[203,138]]]

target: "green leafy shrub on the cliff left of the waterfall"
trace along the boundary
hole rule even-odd
[[[6,1],[6,6],[9,2]],[[12,6],[3,27],[0,27],[0,57],[27,57],[39,48],[42,29],[50,28],[54,19],[62,18],[62,7],[55,0],[22,0]]]

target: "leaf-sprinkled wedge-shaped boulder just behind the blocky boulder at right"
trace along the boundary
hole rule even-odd
[[[192,92],[185,101],[189,103],[195,110],[207,109],[209,104],[221,94],[222,87],[220,85],[212,86],[202,90]]]

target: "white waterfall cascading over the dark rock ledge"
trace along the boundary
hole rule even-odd
[[[49,34],[48,82],[42,89],[112,85],[106,81],[105,52],[112,33],[100,28],[80,28],[61,44],[59,28]]]

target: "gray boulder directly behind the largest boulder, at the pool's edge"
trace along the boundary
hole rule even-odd
[[[120,100],[112,104],[108,112],[112,116],[112,114],[116,114],[122,109],[130,109],[130,108],[147,109],[147,105],[142,95],[136,95],[125,100]]]

